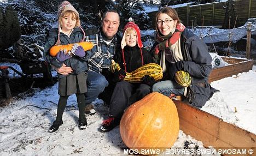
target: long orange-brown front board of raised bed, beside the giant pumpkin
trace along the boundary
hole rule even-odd
[[[253,149],[256,155],[256,135],[224,122],[208,112],[196,109],[187,102],[173,100],[179,115],[179,126],[185,134],[216,149]],[[225,154],[224,154],[225,155]]]

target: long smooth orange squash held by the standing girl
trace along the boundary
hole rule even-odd
[[[94,47],[94,43],[88,42],[88,41],[84,41],[84,42],[80,42],[78,43],[80,46],[83,46],[84,51],[87,50],[91,50],[92,47]],[[67,52],[70,51],[72,49],[73,44],[67,44],[67,45],[55,45],[53,47],[51,47],[50,49],[50,55],[55,57],[57,55],[57,53],[61,50],[61,49],[66,49]]]

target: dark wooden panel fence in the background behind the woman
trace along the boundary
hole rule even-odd
[[[192,26],[192,20],[194,26],[195,17],[196,24],[199,26],[223,26],[226,4],[227,2],[216,2],[174,9],[185,26]],[[249,18],[256,18],[256,0],[236,0],[234,4],[235,16],[238,15],[236,27],[244,25]],[[154,19],[155,13],[150,13],[151,19]]]

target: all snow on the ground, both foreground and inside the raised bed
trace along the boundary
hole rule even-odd
[[[202,110],[256,134],[256,125],[252,124],[256,123],[256,67],[211,85],[220,92]],[[63,125],[56,133],[48,133],[57,112],[57,87],[56,83],[46,89],[33,88],[10,105],[0,107],[0,155],[123,155],[126,146],[119,127],[108,133],[97,131],[108,113],[102,100],[94,102],[96,115],[86,116],[88,128],[79,130],[78,106],[72,95],[63,114]],[[181,130],[173,148],[205,149],[201,141]]]

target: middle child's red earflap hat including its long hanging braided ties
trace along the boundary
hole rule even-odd
[[[121,41],[121,49],[122,49],[122,53],[123,53],[123,61],[124,61],[124,67],[125,67],[125,71],[126,71],[126,63],[125,63],[125,58],[124,58],[124,47],[126,46],[126,41],[125,41],[125,33],[126,30],[128,28],[133,28],[136,32],[136,36],[137,36],[137,45],[139,47],[139,49],[141,50],[141,60],[142,60],[142,65],[144,65],[144,61],[143,61],[143,55],[142,55],[142,41],[141,41],[141,30],[139,29],[138,25],[136,25],[134,22],[128,22],[123,30],[123,39]]]

